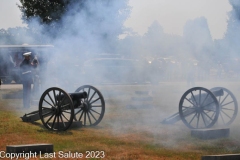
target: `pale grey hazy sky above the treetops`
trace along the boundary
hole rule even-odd
[[[16,4],[19,0],[0,0],[0,29],[25,26]],[[158,21],[164,32],[182,35],[188,20],[204,16],[213,39],[221,39],[227,28],[228,0],[130,0],[130,17],[124,25],[140,35],[147,32],[153,21]]]

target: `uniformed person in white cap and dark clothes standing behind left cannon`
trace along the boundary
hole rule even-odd
[[[31,84],[32,84],[32,64],[30,61],[31,52],[23,54],[24,60],[20,64],[23,84],[23,107],[30,108],[31,104]]]

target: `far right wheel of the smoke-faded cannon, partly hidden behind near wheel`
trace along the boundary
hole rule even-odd
[[[215,87],[212,90],[223,90],[223,96],[217,97],[220,114],[218,117],[218,125],[230,125],[236,118],[238,113],[238,103],[237,99],[231,91],[223,87]]]

